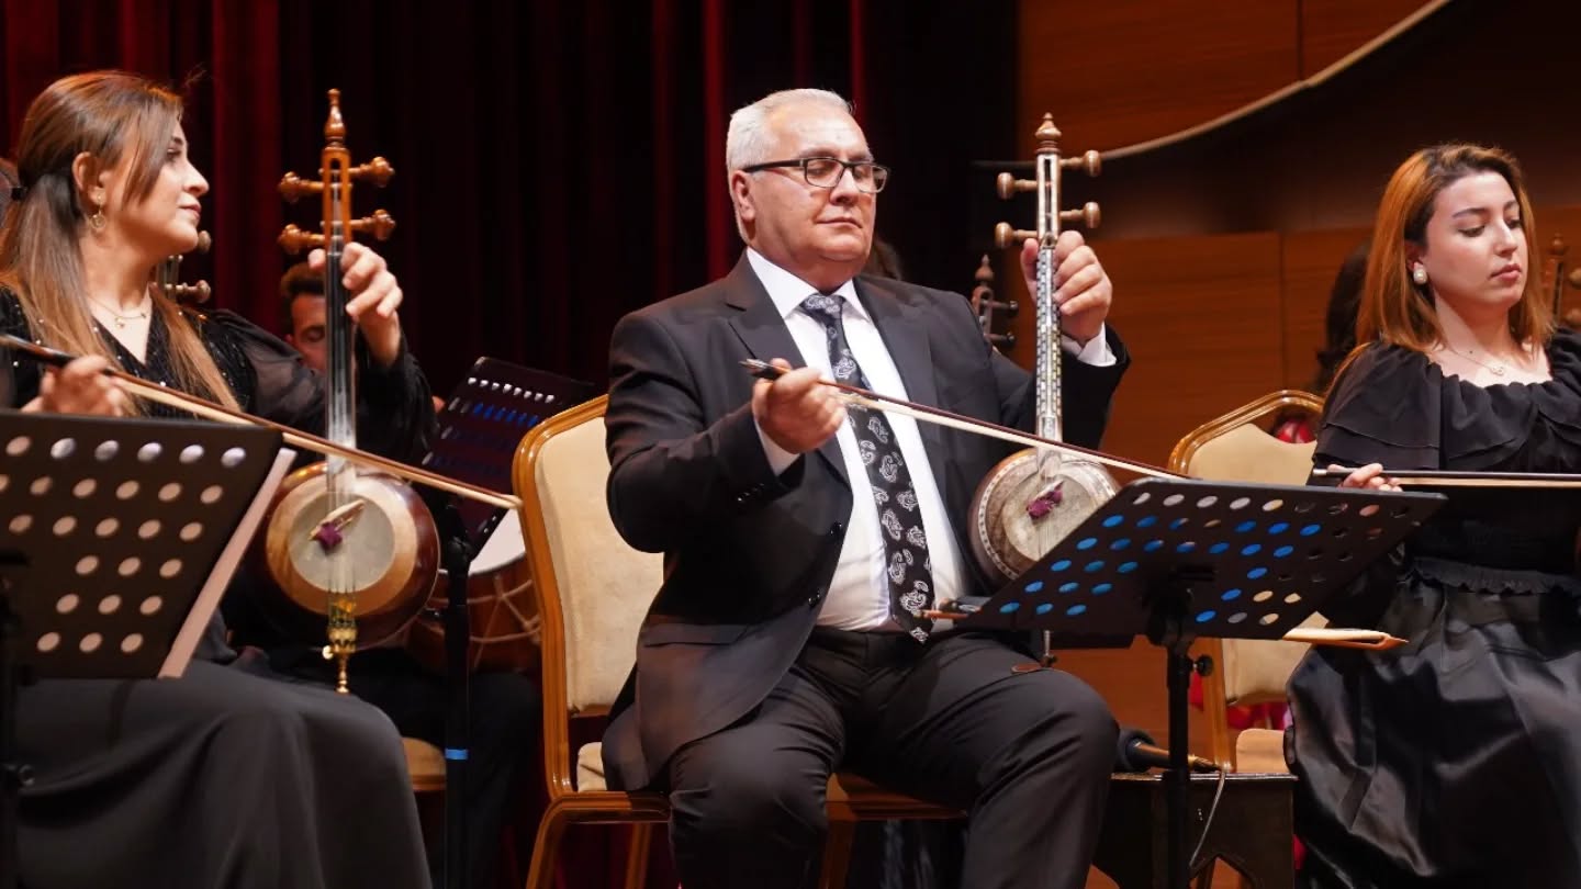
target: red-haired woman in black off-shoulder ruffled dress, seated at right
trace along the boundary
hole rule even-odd
[[[1385,190],[1356,342],[1317,437],[1388,471],[1581,471],[1581,340],[1532,274],[1504,152],[1415,153]],[[1453,489],[1352,595],[1393,652],[1314,649],[1290,680],[1304,876],[1344,887],[1581,886],[1581,500]]]

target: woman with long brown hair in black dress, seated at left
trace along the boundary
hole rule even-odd
[[[0,331],[81,357],[14,367],[22,410],[171,416],[96,370],[315,429],[319,378],[280,340],[228,315],[194,315],[150,286],[155,264],[198,240],[207,182],[187,158],[180,100],[122,73],[51,84],[17,144],[21,190],[0,237]],[[323,255],[313,258],[323,264]],[[428,388],[406,353],[400,288],[351,245],[345,280],[360,329],[370,443],[421,452]],[[389,452],[389,449],[387,449]],[[19,702],[28,889],[422,887],[422,837],[400,736],[376,709],[283,682],[225,645],[215,619],[177,680],[44,680]]]

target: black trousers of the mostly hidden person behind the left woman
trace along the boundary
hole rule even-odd
[[[321,656],[297,661],[297,672],[332,680]],[[446,680],[428,672],[400,649],[370,649],[351,660],[351,691],[389,715],[406,737],[444,747],[444,715],[449,707]],[[534,774],[542,706],[538,683],[514,672],[474,674],[468,685],[466,862],[471,886],[493,889],[500,832],[526,797],[519,778]],[[454,788],[446,793],[455,793]],[[443,887],[443,846],[428,857],[433,884]]]

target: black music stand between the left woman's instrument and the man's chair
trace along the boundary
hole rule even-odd
[[[515,446],[544,419],[593,395],[593,384],[533,370],[496,357],[479,357],[440,411],[440,435],[422,465],[440,475],[511,494]],[[493,533],[504,509],[473,500],[452,500],[460,528],[446,528],[444,571],[449,592],[444,604],[444,664],[451,707],[444,718],[444,785],[466,786],[468,669],[471,636],[466,614],[466,574],[473,557]],[[440,519],[440,511],[435,514]],[[446,525],[452,522],[444,522]],[[466,873],[466,816],[460,797],[444,794],[444,883],[470,884]],[[3,889],[3,887],[0,887]]]

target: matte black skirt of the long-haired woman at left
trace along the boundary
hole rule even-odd
[[[421,889],[400,734],[372,706],[193,661],[177,680],[24,688],[27,889]]]

